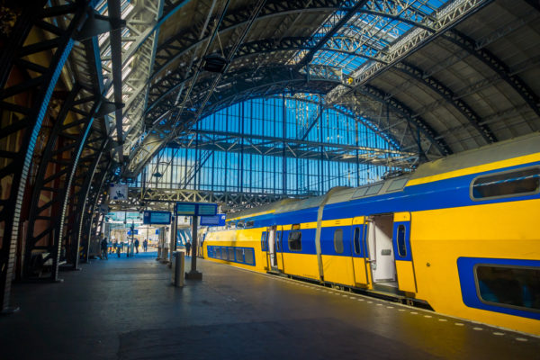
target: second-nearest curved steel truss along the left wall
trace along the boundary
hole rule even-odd
[[[25,277],[31,276],[32,253],[40,250],[49,254],[45,261],[52,259],[50,279],[58,280],[69,193],[79,157],[100,104],[99,95],[76,84],[67,94],[50,130],[31,196],[24,251]],[[36,225],[41,225],[42,229],[39,231]]]

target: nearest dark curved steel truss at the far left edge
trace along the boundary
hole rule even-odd
[[[41,122],[49,106],[60,71],[86,18],[86,1],[45,6],[45,1],[24,4],[10,40],[0,58],[0,107],[3,112],[0,142],[0,180],[10,184],[0,200],[0,302],[8,308],[19,239],[23,197]],[[27,43],[31,33],[47,31],[49,40]],[[5,191],[5,190],[4,190]]]

